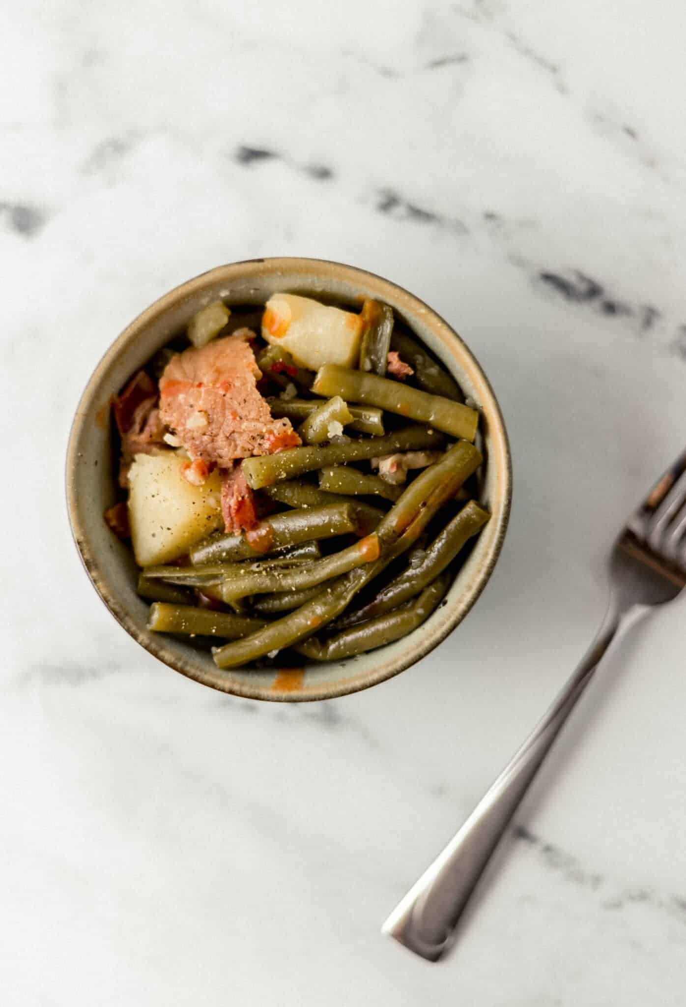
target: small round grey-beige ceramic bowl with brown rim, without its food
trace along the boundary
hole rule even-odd
[[[220,671],[211,655],[146,627],[148,605],[136,594],[138,570],[130,549],[103,520],[116,501],[110,402],[126,381],[191,315],[221,297],[227,304],[264,304],[272,293],[324,297],[359,307],[363,297],[385,301],[433,350],[482,413],[485,457],[481,501],[491,521],[477,538],[444,603],[408,636],[377,651],[326,665],[282,671]],[[182,675],[235,696],[264,700],[331,699],[367,689],[416,664],[462,622],[488,581],[500,553],[510,512],[512,470],[503,418],[484,372],[460,336],[402,287],[352,266],[318,259],[252,259],[219,266],[155,301],[115,340],[89,381],[76,409],[66,456],[71,531],[83,566],[101,598],[134,639]]]

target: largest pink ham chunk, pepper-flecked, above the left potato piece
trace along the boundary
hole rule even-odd
[[[251,333],[250,333],[251,335]],[[245,330],[171,358],[160,379],[160,414],[191,458],[231,468],[236,458],[296,447],[288,419],[275,420]]]

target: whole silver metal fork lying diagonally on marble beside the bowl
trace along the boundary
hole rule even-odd
[[[416,955],[438,962],[550,746],[637,605],[671,601],[686,586],[686,451],[653,486],[610,557],[611,596],[603,624],[543,719],[505,766],[455,838],[381,927]]]

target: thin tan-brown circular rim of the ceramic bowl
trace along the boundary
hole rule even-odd
[[[492,424],[494,419],[496,421],[495,430],[502,443],[503,458],[505,462],[503,478],[499,483],[499,490],[502,493],[502,503],[500,508],[497,534],[491,545],[490,552],[484,558],[483,568],[480,570],[475,582],[472,584],[468,592],[468,597],[463,602],[460,610],[456,611],[455,618],[448,620],[446,626],[442,628],[442,630],[435,632],[430,637],[424,638],[420,643],[415,644],[411,651],[405,652],[406,656],[401,657],[390,668],[381,668],[376,672],[372,669],[369,674],[360,681],[353,680],[348,681],[347,683],[342,681],[338,685],[328,685],[326,683],[322,683],[316,687],[309,687],[307,691],[303,692],[291,692],[288,689],[277,691],[270,687],[254,687],[247,682],[240,682],[235,679],[228,678],[225,680],[225,685],[222,684],[222,681],[216,680],[216,678],[215,681],[210,682],[207,680],[206,674],[201,669],[193,669],[190,662],[185,663],[177,659],[176,655],[165,645],[164,637],[158,638],[150,630],[140,629],[130,615],[126,606],[119,601],[116,594],[110,589],[106,579],[101,575],[98,556],[95,555],[88,537],[84,534],[84,529],[81,527],[76,501],[75,480],[73,478],[73,473],[75,472],[79,455],[81,435],[84,425],[89,421],[89,409],[98,394],[101,382],[120,354],[127,348],[132,337],[134,337],[142,328],[154,319],[158,319],[164,315],[164,313],[174,307],[177,303],[182,302],[206,286],[210,285],[212,279],[218,280],[221,278],[222,282],[230,282],[231,277],[230,275],[227,275],[227,271],[240,273],[245,269],[245,267],[259,265],[268,265],[275,272],[280,270],[297,272],[299,270],[309,269],[311,273],[316,273],[318,267],[320,269],[324,267],[325,271],[329,272],[344,271],[348,274],[349,279],[353,279],[354,277],[359,277],[360,279],[366,278],[373,281],[375,285],[382,284],[386,286],[399,294],[402,299],[407,302],[408,306],[418,308],[420,311],[425,313],[426,317],[438,321],[455,339],[458,340],[459,343],[461,343],[463,350],[470,358],[471,364],[476,368],[479,378],[483,382],[484,388],[490,396],[490,419]],[[127,633],[141,646],[148,651],[149,654],[157,658],[158,661],[161,661],[174,671],[180,672],[186,678],[193,679],[202,685],[209,686],[210,688],[217,689],[229,695],[238,696],[243,699],[258,699],[270,702],[314,702],[324,699],[336,699],[352,693],[362,692],[365,689],[370,689],[372,686],[379,685],[381,682],[394,678],[396,675],[406,671],[407,668],[417,664],[422,658],[426,657],[427,654],[430,654],[444,639],[446,639],[446,637],[450,635],[458,624],[462,622],[486,587],[502,550],[512,507],[512,454],[500,404],[488,377],[481,367],[481,364],[475,356],[473,350],[467,345],[459,333],[442,315],[439,314],[438,311],[431,307],[431,305],[426,304],[419,297],[412,294],[400,284],[388,280],[377,273],[360,269],[357,266],[351,266],[346,263],[339,263],[329,259],[317,259],[302,256],[266,256],[264,258],[245,259],[215,266],[212,269],[205,270],[203,273],[199,273],[197,276],[194,276],[191,279],[178,284],[176,287],[173,287],[141,311],[108,346],[85,384],[85,387],[79,397],[69,431],[64,475],[69,527],[81,564],[99,597],[110,613],[127,631]]]

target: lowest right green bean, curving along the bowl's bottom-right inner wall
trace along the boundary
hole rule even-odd
[[[326,642],[310,637],[297,644],[298,652],[313,661],[341,661],[400,639],[421,625],[438,607],[448,590],[449,580],[447,576],[439,577],[412,604],[344,629]]]

